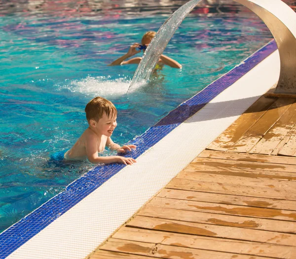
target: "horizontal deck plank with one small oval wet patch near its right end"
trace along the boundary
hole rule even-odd
[[[296,211],[296,201],[254,198],[209,192],[185,191],[165,188],[157,194],[157,197]]]

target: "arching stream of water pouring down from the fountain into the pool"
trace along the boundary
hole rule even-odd
[[[151,43],[148,45],[147,50],[135,72],[132,83],[129,86],[127,93],[134,91],[143,82],[147,82],[151,73],[159,60],[160,55],[165,49],[166,45],[173,37],[175,31],[185,19],[187,14],[200,2],[201,0],[191,0],[182,5],[175,11],[160,27]]]

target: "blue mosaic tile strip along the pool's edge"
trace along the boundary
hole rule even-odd
[[[182,103],[155,126],[130,141],[130,143],[136,144],[138,148],[126,154],[126,156],[138,158],[276,49],[277,46],[274,41],[268,43],[233,70]],[[2,232],[0,234],[0,259],[10,255],[124,167],[122,164],[111,164],[94,168],[71,183],[64,192],[53,197],[33,213]]]

